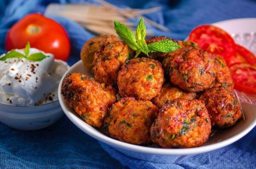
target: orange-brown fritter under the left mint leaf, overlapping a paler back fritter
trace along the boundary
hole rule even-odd
[[[129,59],[131,50],[122,41],[113,41],[102,46],[94,55],[94,77],[99,83],[116,85],[118,72]]]

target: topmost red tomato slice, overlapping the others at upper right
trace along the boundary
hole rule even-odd
[[[235,54],[233,38],[224,30],[212,26],[201,25],[192,30],[189,40],[198,43],[203,50],[212,54],[220,54],[224,59]]]

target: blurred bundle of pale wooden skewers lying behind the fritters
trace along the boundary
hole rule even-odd
[[[66,4],[64,10],[58,11],[58,14],[64,17],[68,17],[71,20],[75,20],[80,23],[84,28],[96,32],[98,34],[113,34],[115,30],[113,29],[113,20],[116,19],[119,22],[125,24],[134,31],[134,23],[128,22],[127,18],[140,18],[139,15],[146,14],[149,12],[159,11],[161,7],[154,7],[150,9],[120,9],[105,0],[95,0],[100,3],[99,5],[94,5],[90,3],[83,4]],[[155,23],[147,18],[144,19],[145,23],[153,25],[158,29],[164,31],[169,31],[164,26]],[[104,26],[105,30],[102,30]],[[112,30],[113,29],[113,30]],[[147,35],[152,34],[152,31],[148,30]]]

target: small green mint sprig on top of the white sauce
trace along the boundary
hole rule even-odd
[[[33,54],[30,54],[29,55],[29,49],[30,49],[30,44],[29,42],[26,44],[26,47],[25,47],[25,54],[22,54],[20,52],[17,52],[15,50],[11,50],[10,52],[6,53],[6,55],[4,55],[3,57],[0,58],[1,61],[4,61],[8,58],[26,58],[27,60],[31,60],[31,61],[41,61],[43,59],[45,59],[46,57],[49,57],[49,56],[46,56],[44,55],[42,52],[38,52],[38,53],[33,53]]]

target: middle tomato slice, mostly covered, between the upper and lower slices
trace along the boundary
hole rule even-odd
[[[251,65],[256,65],[256,57],[255,55],[244,48],[243,46],[236,44],[236,54],[230,57],[230,59],[227,59],[227,65],[232,66],[234,64],[240,64],[240,63],[248,63]]]

